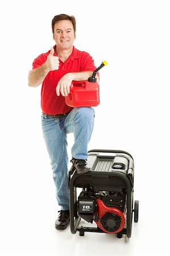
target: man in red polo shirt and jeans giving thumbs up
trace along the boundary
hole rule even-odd
[[[55,227],[65,229],[69,223],[67,134],[74,134],[71,160],[74,168],[78,174],[89,172],[86,159],[94,122],[93,108],[71,108],[65,104],[65,96],[68,96],[73,80],[88,80],[96,67],[89,53],[73,46],[76,38],[74,16],[56,15],[52,19],[52,33],[56,45],[34,60],[28,85],[42,84],[43,137],[51,159],[57,202],[61,207]]]

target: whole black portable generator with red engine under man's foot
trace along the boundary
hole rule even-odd
[[[88,151],[90,172],[69,172],[71,232],[99,232],[131,237],[132,214],[138,222],[139,201],[133,200],[134,160],[126,151]],[[78,191],[80,194],[78,195]],[[134,207],[134,208],[133,208]],[[80,226],[81,219],[96,224]]]

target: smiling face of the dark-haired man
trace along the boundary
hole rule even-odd
[[[53,39],[60,50],[69,49],[75,39],[73,24],[70,20],[60,20],[55,23]]]

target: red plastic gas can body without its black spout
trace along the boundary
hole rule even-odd
[[[99,104],[99,85],[97,82],[73,81],[65,103],[73,108],[97,106]]]

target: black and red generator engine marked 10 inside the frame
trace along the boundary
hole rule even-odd
[[[118,233],[126,225],[126,189],[122,192],[85,191],[78,196],[78,215],[96,222],[105,233]]]

